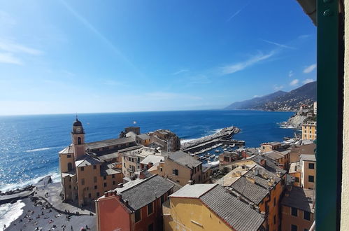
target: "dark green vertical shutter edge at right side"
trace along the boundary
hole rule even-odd
[[[318,0],[318,126],[316,230],[339,230],[341,132],[339,120],[339,2]]]

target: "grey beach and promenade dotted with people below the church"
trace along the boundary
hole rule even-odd
[[[79,208],[62,202],[60,183],[38,183],[33,195],[21,200],[23,214],[6,230],[96,230],[94,204]]]

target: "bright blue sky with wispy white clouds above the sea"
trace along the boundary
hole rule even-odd
[[[220,109],[316,78],[286,1],[1,1],[0,115]]]

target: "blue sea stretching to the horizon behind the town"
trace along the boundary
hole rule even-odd
[[[255,147],[293,136],[294,130],[278,125],[290,116],[292,113],[265,111],[166,111],[81,114],[79,120],[87,142],[117,138],[136,121],[141,132],[168,129],[181,139],[204,137],[234,125],[241,128],[234,139]],[[1,116],[0,190],[34,183],[47,174],[59,179],[58,152],[71,144],[73,120],[75,115]]]

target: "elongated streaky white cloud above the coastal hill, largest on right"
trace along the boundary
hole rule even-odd
[[[257,55],[250,57],[250,59],[247,59],[244,62],[238,62],[235,64],[230,64],[230,65],[222,67],[222,74],[229,74],[229,73],[235,73],[236,71],[242,71],[243,69],[247,68],[248,66],[252,66],[252,65],[257,64],[258,62],[269,59],[270,57],[272,57],[275,54],[276,54],[275,50],[272,50],[271,52],[266,53],[266,54],[259,52]]]

